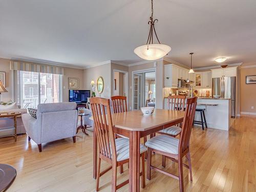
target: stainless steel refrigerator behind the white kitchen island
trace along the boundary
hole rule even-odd
[[[231,99],[231,117],[236,117],[236,77],[212,78],[212,96]]]

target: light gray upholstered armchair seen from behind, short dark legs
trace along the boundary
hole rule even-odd
[[[44,103],[37,106],[37,118],[23,114],[22,120],[30,138],[38,145],[41,143],[73,137],[75,143],[78,115],[75,102]]]

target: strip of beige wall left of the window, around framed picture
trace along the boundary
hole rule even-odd
[[[6,77],[6,89],[8,93],[2,93],[3,101],[8,101],[12,98],[12,71],[10,70],[10,60],[0,58],[0,72],[5,72]]]

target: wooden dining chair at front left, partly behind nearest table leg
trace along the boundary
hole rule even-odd
[[[129,162],[129,139],[114,137],[114,128],[110,110],[110,99],[94,97],[90,99],[94,119],[94,131],[99,144],[98,169],[96,176],[96,191],[99,190],[99,178],[112,169],[112,191],[129,183],[129,179],[117,185],[117,167]],[[145,187],[145,160],[146,147],[140,145],[140,156],[142,157],[142,172],[140,175],[141,187]],[[100,172],[101,160],[112,166]]]

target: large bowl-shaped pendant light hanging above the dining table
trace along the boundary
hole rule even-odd
[[[150,25],[150,33],[148,33],[146,45],[135,48],[134,53],[145,60],[157,60],[164,57],[167,53],[172,50],[167,45],[163,45],[160,43],[156,30],[155,30],[155,22],[158,22],[158,19],[153,19],[153,0],[151,0],[151,17],[148,25]],[[158,44],[154,44],[153,35],[155,33]]]

